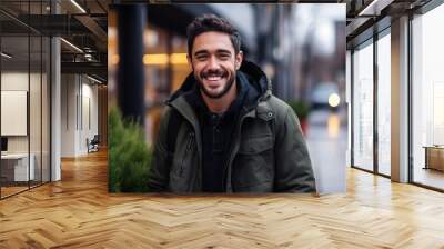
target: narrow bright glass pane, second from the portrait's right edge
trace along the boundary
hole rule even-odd
[[[391,56],[390,33],[377,41],[377,167],[390,176],[391,157]]]

